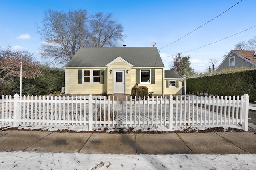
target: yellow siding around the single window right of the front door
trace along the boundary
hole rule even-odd
[[[139,68],[132,69],[131,88],[136,83],[136,69],[139,69]],[[163,69],[162,68],[153,68],[153,69],[155,70],[155,84],[139,84],[138,82],[137,83],[139,86],[148,87],[148,92],[154,92],[153,95],[162,95],[163,94]]]

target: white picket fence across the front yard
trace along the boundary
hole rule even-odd
[[[23,96],[0,98],[0,124],[79,125],[85,130],[238,124],[248,130],[249,96],[177,96],[132,98],[118,96]],[[114,119],[113,119],[114,118]]]

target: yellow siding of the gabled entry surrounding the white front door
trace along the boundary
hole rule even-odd
[[[108,74],[108,94],[113,94],[113,76],[114,76],[114,70],[124,70],[124,80],[125,80],[125,84],[124,84],[124,92],[125,94],[131,94],[131,68],[130,66],[125,63],[124,61],[122,61],[121,59],[116,60],[114,63],[110,64],[108,66],[108,70],[107,70],[107,74]],[[112,70],[112,73],[110,74],[110,70]],[[129,70],[128,74],[126,73],[126,70]]]

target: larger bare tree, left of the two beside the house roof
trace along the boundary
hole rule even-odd
[[[42,23],[36,27],[44,40],[40,50],[45,59],[52,63],[67,63],[80,47],[87,44],[87,11],[69,10],[58,12],[45,10]]]

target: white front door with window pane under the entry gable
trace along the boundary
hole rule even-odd
[[[124,70],[114,70],[114,93],[124,94]]]

